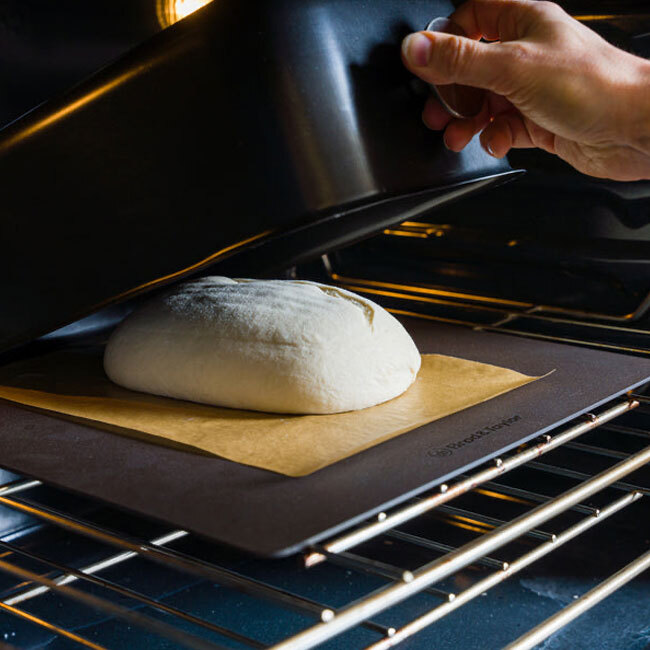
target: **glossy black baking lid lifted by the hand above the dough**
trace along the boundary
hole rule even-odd
[[[253,244],[248,273],[287,268],[502,182],[505,158],[422,124],[400,60],[451,11],[212,2],[1,129],[0,351]]]

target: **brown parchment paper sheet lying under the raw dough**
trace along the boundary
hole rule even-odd
[[[311,474],[538,379],[425,354],[415,383],[389,402],[335,415],[277,415],[120,388],[104,374],[102,354],[102,348],[61,350],[0,367],[0,398],[286,476]]]

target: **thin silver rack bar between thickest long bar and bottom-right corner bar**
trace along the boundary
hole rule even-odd
[[[465,589],[464,591],[456,594],[456,598],[453,601],[449,603],[442,603],[441,605],[434,607],[426,614],[423,614],[422,616],[414,619],[404,627],[397,630],[390,639],[382,639],[381,641],[369,646],[367,650],[387,650],[387,648],[392,648],[402,641],[405,641],[406,639],[412,637],[414,634],[421,632],[424,628],[428,627],[432,623],[435,623],[459,607],[467,604],[477,596],[480,596],[504,580],[507,580],[515,573],[518,573],[540,558],[548,555],[563,544],[566,544],[568,541],[574,539],[578,535],[581,535],[586,530],[589,530],[597,524],[602,523],[608,517],[611,517],[616,512],[619,512],[635,501],[638,501],[640,498],[642,498],[642,495],[639,492],[633,492],[631,494],[627,494],[624,497],[621,497],[617,501],[614,501],[613,503],[603,508],[600,512],[600,515],[591,515],[590,517],[586,517],[582,521],[579,521],[574,526],[571,526],[562,533],[559,533],[556,536],[555,541],[549,540],[543,544],[540,544],[532,551],[529,551],[517,560],[514,560],[508,564],[502,571],[496,571],[495,573],[490,574],[482,580],[479,580],[468,589]]]

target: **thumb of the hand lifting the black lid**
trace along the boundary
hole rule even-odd
[[[430,84],[475,86],[506,94],[512,52],[503,43],[482,43],[442,32],[416,32],[402,43],[406,67]]]

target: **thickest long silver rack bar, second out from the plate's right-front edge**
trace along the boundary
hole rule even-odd
[[[561,496],[541,504],[511,522],[485,533],[461,546],[456,551],[434,560],[413,572],[411,580],[378,589],[368,597],[352,603],[341,610],[331,621],[319,623],[274,646],[275,650],[301,650],[312,648],[354,627],[389,607],[421,592],[426,587],[466,567],[478,558],[488,555],[500,546],[516,539],[523,533],[552,519],[567,508],[580,503],[596,492],[608,487],[630,472],[650,462],[650,446],[621,461],[593,478],[568,490]]]

